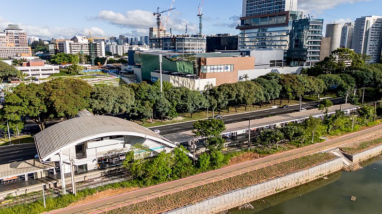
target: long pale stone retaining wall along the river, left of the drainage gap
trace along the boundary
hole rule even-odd
[[[166,212],[166,214],[215,214],[223,212],[224,210],[237,207],[241,204],[261,199],[285,189],[313,181],[321,176],[333,173],[334,171],[339,171],[343,166],[342,158],[338,157],[332,161],[320,164],[307,170],[290,173],[286,176],[261,184],[234,190],[222,196],[217,196],[192,205],[177,208]]]

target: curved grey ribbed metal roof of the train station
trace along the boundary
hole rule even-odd
[[[150,139],[159,140],[168,145],[173,144],[152,130],[131,121],[113,116],[95,115],[76,117],[54,124],[34,135],[34,142],[39,157],[44,158],[70,143],[111,132],[120,132],[121,135],[143,134]]]

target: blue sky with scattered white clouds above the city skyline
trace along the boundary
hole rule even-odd
[[[18,24],[29,36],[45,40],[70,39],[75,35],[111,37],[148,35],[156,26],[153,12],[166,10],[171,0],[1,0],[0,30]],[[167,31],[173,34],[198,32],[198,5],[202,0],[175,0]],[[203,33],[239,34],[242,0],[205,0]],[[298,0],[297,8],[324,24],[354,22],[366,15],[382,16],[382,0]],[[165,13],[164,17],[167,16]],[[165,18],[162,19],[164,22]]]

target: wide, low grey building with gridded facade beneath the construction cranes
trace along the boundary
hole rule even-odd
[[[174,35],[172,37],[150,38],[150,48],[161,48],[185,54],[206,53],[206,35]]]

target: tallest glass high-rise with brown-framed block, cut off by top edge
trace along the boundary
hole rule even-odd
[[[243,0],[239,49],[288,49],[292,21],[302,18],[297,0]]]

